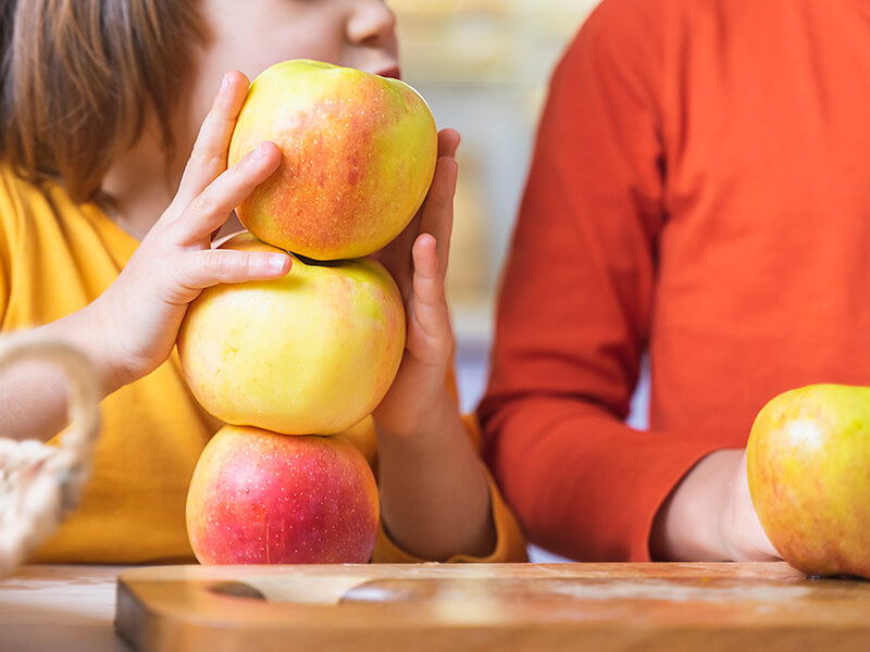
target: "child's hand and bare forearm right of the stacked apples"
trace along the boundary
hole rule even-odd
[[[444,277],[453,223],[459,134],[438,135],[438,164],[414,220],[377,258],[405,299],[408,331],[396,380],[373,413],[381,524],[409,554],[485,556],[496,544],[489,486],[446,387],[453,334]]]

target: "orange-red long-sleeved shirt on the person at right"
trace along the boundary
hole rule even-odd
[[[648,560],[662,501],[769,399],[870,385],[869,105],[866,0],[593,12],[552,77],[478,410],[533,542]]]

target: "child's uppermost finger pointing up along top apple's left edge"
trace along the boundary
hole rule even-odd
[[[177,200],[187,205],[226,170],[226,152],[236,117],[248,92],[248,78],[238,71],[224,75],[187,161]]]

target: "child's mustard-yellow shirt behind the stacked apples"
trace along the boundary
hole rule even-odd
[[[95,204],[73,203],[62,188],[44,191],[0,164],[0,333],[59,319],[94,301],[138,246]],[[194,399],[173,353],[147,377],[107,397],[94,473],[79,505],[35,562],[191,561],[184,509],[194,466],[221,426]],[[476,423],[465,417],[480,446]],[[348,432],[374,462],[371,419]],[[487,476],[488,477],[488,476]],[[498,542],[485,560],[522,561],[523,539],[489,478]],[[374,561],[418,561],[383,531]]]

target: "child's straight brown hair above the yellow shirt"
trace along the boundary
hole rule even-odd
[[[139,138],[149,109],[172,152],[172,110],[192,46],[204,36],[196,2],[0,5],[0,160],[34,183],[58,180],[84,201]]]

